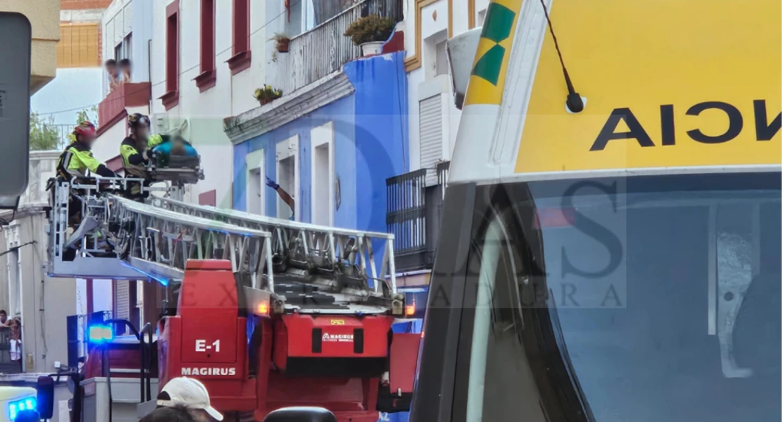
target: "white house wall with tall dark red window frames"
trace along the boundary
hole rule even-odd
[[[138,0],[137,0],[138,1]],[[231,75],[228,59],[231,59],[233,34],[233,2],[217,0],[215,17],[215,86],[200,92],[195,76],[200,73],[200,2],[179,2],[179,101],[170,110],[163,107],[160,97],[166,93],[166,7],[170,1],[152,2],[152,110],[153,130],[165,131],[188,120],[189,138],[201,155],[205,179],[191,186],[185,200],[197,202],[200,193],[216,191],[217,206],[231,207],[231,183],[233,174],[233,147],[224,133],[223,120],[239,115],[259,104],[253,92],[264,83],[278,80],[279,66],[273,60],[275,44],[270,41],[274,33],[289,37],[312,27],[314,18],[311,1],[292,2],[291,22],[285,11],[285,0],[250,2],[250,51],[249,69]],[[167,122],[165,122],[167,120]],[[158,123],[163,127],[157,127]],[[265,181],[263,181],[265,183]],[[264,185],[260,186],[261,191]],[[260,204],[259,204],[260,206]]]

